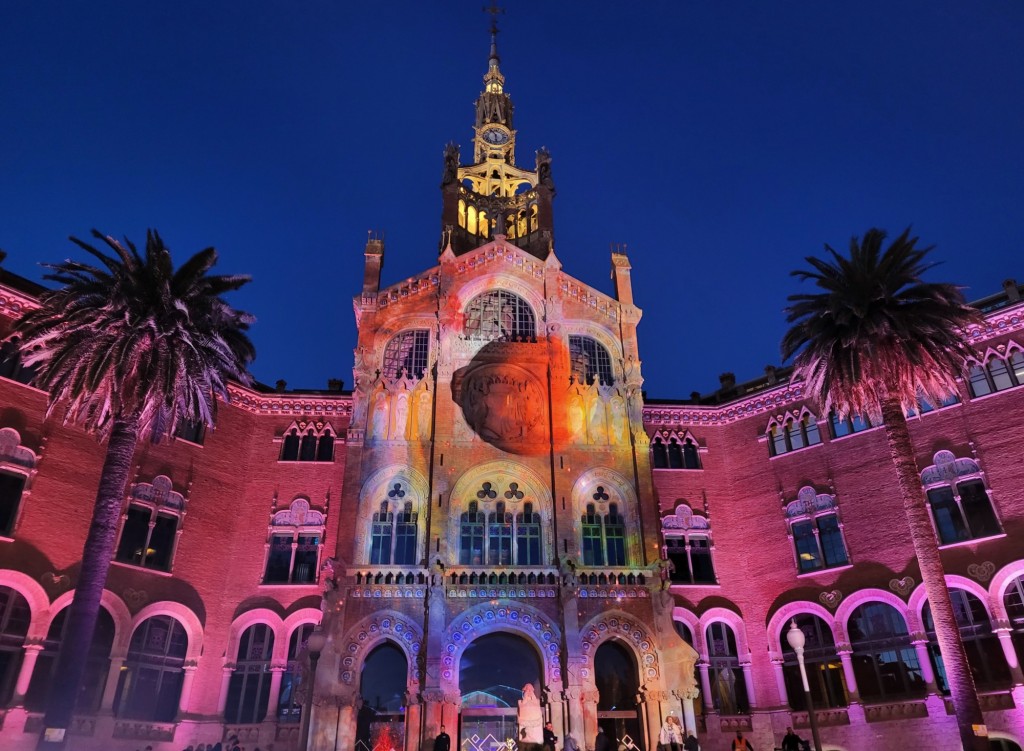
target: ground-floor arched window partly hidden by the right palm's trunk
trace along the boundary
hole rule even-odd
[[[970,592],[963,589],[950,589],[949,598],[953,603],[953,616],[959,627],[964,651],[967,653],[967,663],[974,675],[974,682],[981,690],[1001,689],[1011,683],[1010,666],[1002,654],[998,637],[992,633],[992,623],[984,603]],[[935,621],[932,619],[932,606],[925,602],[921,614],[928,634],[928,649],[935,667],[935,680],[939,691],[949,693],[949,681],[946,678],[946,667],[939,652],[938,637],[935,635]]]

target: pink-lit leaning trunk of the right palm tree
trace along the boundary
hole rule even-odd
[[[942,653],[946,678],[949,681],[961,742],[965,751],[987,751],[988,739],[976,736],[974,733],[973,725],[980,725],[985,721],[981,713],[981,702],[978,700],[974,676],[967,663],[964,641],[961,639],[959,627],[953,615],[952,601],[946,588],[945,571],[939,555],[938,540],[932,527],[928,501],[921,488],[921,476],[910,442],[910,431],[907,429],[906,417],[898,399],[887,397],[883,401],[882,418],[885,421],[886,440],[889,442],[889,455],[896,467],[896,478],[900,495],[903,497],[903,510],[910,528],[913,551],[918,556],[921,578],[932,608],[935,635],[939,642],[939,651]]]

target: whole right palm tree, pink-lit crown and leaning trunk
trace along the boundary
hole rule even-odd
[[[782,357],[796,354],[795,377],[803,378],[824,411],[881,416],[884,421],[961,740],[965,749],[983,751],[987,740],[972,728],[984,721],[981,704],[905,416],[922,398],[939,404],[956,392],[956,377],[973,353],[965,331],[982,316],[967,305],[958,287],[922,281],[934,265],[925,262],[932,247],[918,248],[909,227],[883,252],[885,239],[881,230],[869,230],[860,242],[853,238],[848,258],[825,245],[830,261],[808,257],[812,269],[793,273],[801,281],[813,281],[821,292],[790,296],[786,321],[793,326],[782,339]]]

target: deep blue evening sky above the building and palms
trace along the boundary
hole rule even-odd
[[[433,264],[450,139],[469,149],[483,0],[9,2],[6,267],[91,227],[254,282],[254,373],[351,383],[367,230],[384,283]],[[1024,281],[1024,4],[506,0],[518,156],[547,145],[556,252],[634,264],[651,397],[778,360],[788,272],[912,223],[969,297]]]

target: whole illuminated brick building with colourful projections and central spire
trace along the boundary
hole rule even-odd
[[[445,152],[442,247],[381,288],[365,251],[353,389],[232,387],[215,431],[138,450],[73,748],[294,749],[305,641],[328,634],[311,747],[504,741],[531,682],[563,738],[951,751],[894,470],[878,426],[763,378],[644,403],[629,259],[614,295],[555,255],[550,155],[517,166],[493,44],[472,163]],[[4,328],[38,288],[0,273]],[[1024,302],[987,325],[962,393],[911,421],[993,748],[1024,741]],[[34,747],[103,447],[45,418],[0,359],[0,745]],[[495,674],[487,671],[496,665]],[[507,673],[498,675],[505,670]]]

